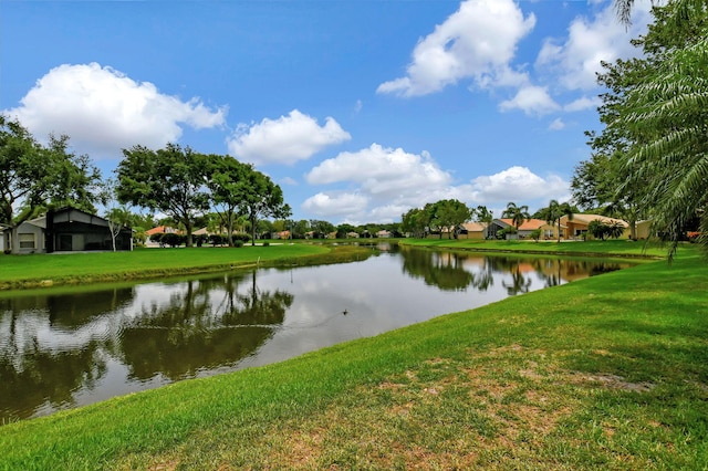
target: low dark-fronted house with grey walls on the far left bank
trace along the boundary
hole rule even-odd
[[[113,250],[108,221],[74,208],[62,208],[2,230],[12,253],[52,253]],[[17,241],[12,243],[12,234]],[[122,228],[115,237],[116,250],[133,250],[133,231]]]

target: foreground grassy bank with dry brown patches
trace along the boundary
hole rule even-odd
[[[690,250],[267,367],[0,428],[0,469],[696,469]]]

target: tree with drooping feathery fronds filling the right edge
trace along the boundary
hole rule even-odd
[[[628,21],[632,0],[616,2]],[[690,221],[698,216],[708,252],[708,10],[705,0],[670,0],[654,7],[655,21],[634,43],[644,57],[621,70],[629,81],[616,96],[606,129],[627,138],[623,188],[644,188],[641,205],[652,231],[670,242],[669,259]]]

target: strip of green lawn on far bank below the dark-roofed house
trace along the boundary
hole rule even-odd
[[[0,290],[175,276],[240,266],[294,263],[324,255],[322,245],[138,249],[133,252],[0,255]]]

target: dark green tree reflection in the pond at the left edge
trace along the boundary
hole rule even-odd
[[[42,345],[32,322],[42,325],[48,318],[52,331],[71,337],[132,297],[133,289],[126,287],[0,300],[0,321],[9,316],[9,328],[0,342],[0,419],[28,418],[44,405],[72,406],[76,390],[92,389],[104,376],[104,353],[115,352],[110,336],[80,345]]]

